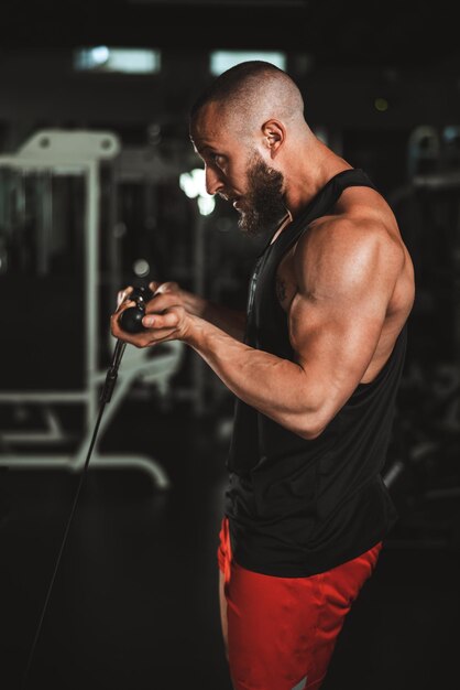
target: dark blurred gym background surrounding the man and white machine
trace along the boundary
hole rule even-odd
[[[116,292],[136,280],[139,259],[149,262],[150,278],[244,306],[258,241],[239,234],[232,209],[219,202],[200,216],[179,186],[180,173],[200,166],[187,112],[211,78],[211,51],[285,53],[311,128],[386,196],[417,288],[385,467],[399,521],[346,623],[325,690],[457,687],[460,48],[452,6],[19,0],[3,2],[0,12],[0,155],[52,128],[112,132],[122,152],[142,158],[134,172],[117,161],[100,169],[101,375],[113,345],[108,319]],[[96,45],[160,50],[162,69],[150,76],[76,72],[74,51]],[[0,170],[6,690],[20,688],[78,485],[76,472],[43,468],[41,459],[68,453],[72,470],[96,421],[85,406],[53,403],[45,395],[87,385],[84,208],[78,179]],[[55,235],[39,241],[46,218]],[[52,258],[39,270],[43,247]],[[233,400],[190,352],[163,388],[155,380],[133,378],[101,434],[102,459],[118,453],[125,462],[90,465],[30,690],[230,690],[215,554]],[[57,439],[50,424],[57,424]],[[130,465],[132,455],[158,462],[168,487]],[[30,457],[28,468],[19,457]]]

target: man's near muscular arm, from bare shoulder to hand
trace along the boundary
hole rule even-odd
[[[347,223],[319,227],[296,248],[298,292],[287,315],[296,362],[251,348],[199,316],[177,326],[176,337],[236,396],[306,439],[322,431],[363,377],[401,271],[401,251],[383,230]],[[179,313],[154,317],[158,335],[163,328],[175,337],[167,328]]]

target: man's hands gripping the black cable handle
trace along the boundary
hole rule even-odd
[[[111,333],[114,337],[135,347],[150,347],[173,339],[186,339],[191,316],[185,309],[185,292],[176,282],[151,282],[149,288],[154,297],[147,302],[142,320],[146,328],[141,333],[127,333],[119,325],[120,314],[134,302],[129,299],[132,287],[118,293],[117,311],[111,316]]]

